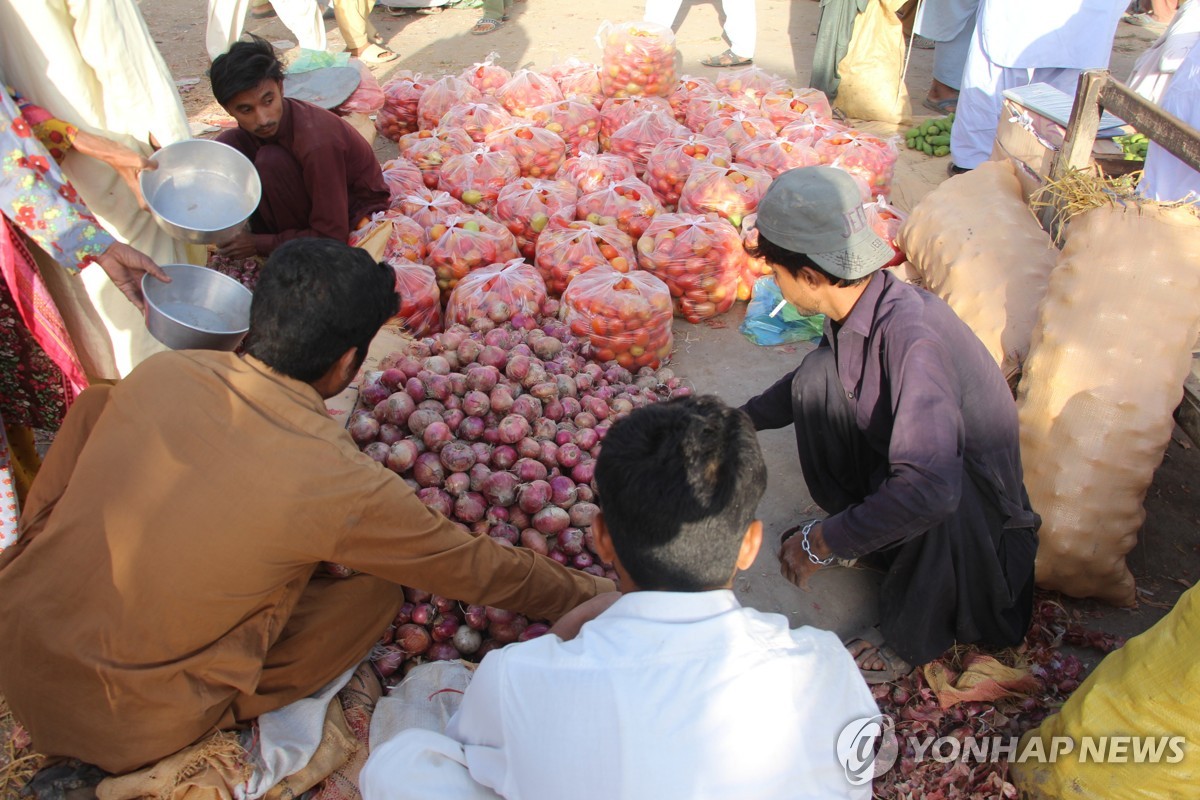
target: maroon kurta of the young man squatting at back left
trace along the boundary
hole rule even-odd
[[[346,241],[362,217],[388,207],[388,186],[366,139],[342,118],[312,103],[283,100],[274,139],[241,128],[217,142],[254,162],[263,200],[251,217],[259,255],[290,239]]]

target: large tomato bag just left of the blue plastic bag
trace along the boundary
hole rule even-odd
[[[733,307],[745,258],[737,229],[716,216],[662,213],[637,240],[637,265],[662,278],[689,323]]]

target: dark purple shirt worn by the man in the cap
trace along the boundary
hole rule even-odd
[[[829,548],[857,558],[906,541],[955,512],[970,476],[1007,519],[1034,528],[1021,476],[1016,404],[966,324],[941,299],[876,273],[840,326],[826,321],[858,428],[888,470],[862,503],[822,524]],[[758,431],[792,419],[788,374],[744,407]]]

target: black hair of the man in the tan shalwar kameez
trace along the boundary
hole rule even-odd
[[[259,275],[246,353],[312,383],[349,348],[361,363],[398,301],[396,273],[365,249],[332,239],[293,239],[271,253]]]

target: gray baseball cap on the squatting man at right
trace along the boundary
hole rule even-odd
[[[895,255],[868,224],[854,179],[834,167],[799,167],[773,180],[755,224],[770,243],[846,281],[866,277]]]

